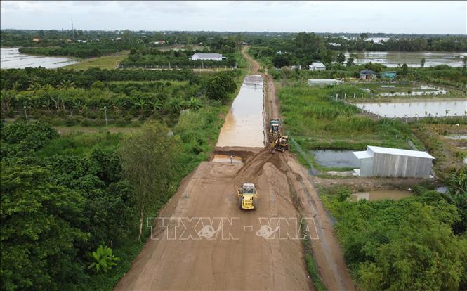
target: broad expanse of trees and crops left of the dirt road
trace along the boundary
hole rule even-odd
[[[243,74],[2,71],[2,118],[15,120],[1,125],[1,260],[8,261],[1,289],[112,290],[149,235],[141,217],[157,216],[179,181],[209,158]],[[225,94],[208,97],[214,84]],[[24,106],[29,123],[20,122]],[[124,127],[87,130],[103,127],[106,114]],[[136,157],[147,159],[135,164]],[[148,160],[156,170],[143,193],[134,182]]]

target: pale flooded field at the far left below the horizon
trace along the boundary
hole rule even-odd
[[[23,69],[25,67],[46,67],[53,69],[78,63],[72,58],[52,56],[30,56],[19,52],[19,48],[0,48],[2,69]]]

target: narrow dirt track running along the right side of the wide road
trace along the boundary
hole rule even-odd
[[[251,67],[258,70],[259,63],[246,53],[246,47],[242,53],[251,63]],[[268,73],[263,73],[266,83],[265,110],[269,118],[279,118],[279,101],[275,91],[274,79]],[[267,119],[268,120],[268,119]],[[287,153],[282,155],[282,160],[289,166],[287,176],[292,181],[294,192],[297,193],[299,205],[298,210],[305,217],[313,217],[317,229],[318,240],[312,240],[313,257],[315,258],[318,271],[326,285],[327,290],[355,290],[350,274],[343,258],[343,253],[331,220],[327,215],[320,197],[317,195],[308,171],[299,164],[296,159]],[[292,190],[292,189],[291,189]]]

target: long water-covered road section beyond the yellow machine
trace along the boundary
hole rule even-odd
[[[217,147],[263,148],[265,146],[263,99],[263,77],[247,75],[232,103],[232,108],[225,117]]]

